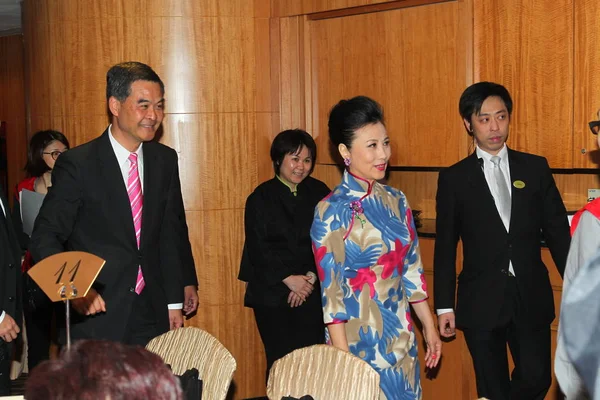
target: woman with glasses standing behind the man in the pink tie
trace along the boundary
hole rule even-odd
[[[33,266],[31,254],[27,251],[29,235],[23,232],[21,219],[21,192],[46,194],[52,186],[51,176],[54,163],[58,157],[69,149],[69,141],[61,132],[53,130],[39,131],[29,140],[27,178],[16,187],[13,199],[12,219],[19,236],[21,249],[25,252],[23,272],[23,315],[27,326],[27,365],[29,370],[35,368],[41,361],[47,360],[50,351],[51,324],[54,305],[42,290],[29,278],[27,271]]]

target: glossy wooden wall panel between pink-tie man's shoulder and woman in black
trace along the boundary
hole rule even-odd
[[[252,113],[171,114],[186,210],[243,209],[257,181]]]

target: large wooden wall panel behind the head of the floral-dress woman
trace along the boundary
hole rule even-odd
[[[466,155],[457,102],[468,53],[459,44],[466,36],[459,11],[458,2],[445,2],[310,21],[312,133],[320,148],[329,148],[331,107],[366,95],[386,111],[391,165],[446,166]]]

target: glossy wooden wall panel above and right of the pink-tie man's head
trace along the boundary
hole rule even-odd
[[[253,19],[156,17],[150,31],[158,39],[150,65],[170,88],[168,112],[254,110]]]

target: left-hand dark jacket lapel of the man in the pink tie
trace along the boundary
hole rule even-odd
[[[111,234],[119,235],[122,232],[125,239],[137,248],[129,196],[127,196],[127,188],[123,181],[123,174],[121,173],[117,156],[108,138],[108,130],[104,131],[97,143],[98,165],[103,179],[101,185],[106,189],[109,200],[108,207],[110,210],[108,215],[114,217],[110,221],[112,224]]]

